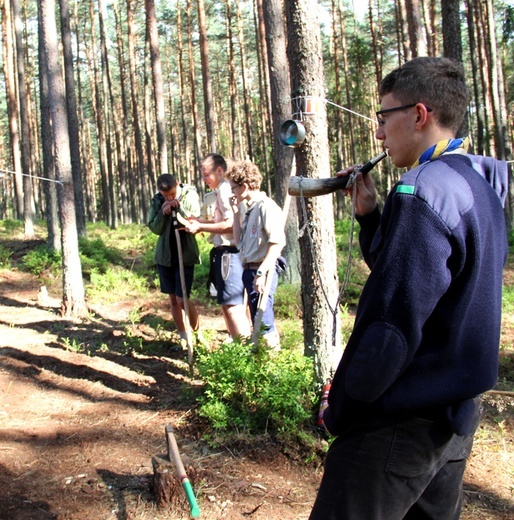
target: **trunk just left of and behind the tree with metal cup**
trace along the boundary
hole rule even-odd
[[[273,169],[275,171],[275,192],[277,203],[287,211],[285,225],[287,259],[285,277],[289,283],[300,281],[300,243],[298,242],[298,210],[289,197],[289,178],[296,170],[295,154],[292,148],[284,146],[279,139],[279,129],[284,121],[291,118],[291,106],[286,100],[291,95],[291,80],[287,59],[287,35],[284,25],[282,0],[263,0],[266,43],[270,69],[272,127],[273,127]]]

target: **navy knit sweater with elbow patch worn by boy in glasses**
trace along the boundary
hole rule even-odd
[[[382,215],[359,218],[371,273],[332,382],[331,433],[403,414],[469,431],[473,398],[497,379],[505,187],[505,163],[445,155],[407,172]]]

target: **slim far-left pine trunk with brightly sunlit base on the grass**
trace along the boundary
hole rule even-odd
[[[25,237],[34,237],[34,201],[32,194],[32,177],[30,170],[30,131],[27,108],[27,86],[25,80],[25,60],[23,56],[23,24],[21,21],[19,0],[11,0],[16,40],[16,65],[18,68],[18,104],[20,107],[21,129],[21,167],[23,171],[23,221]]]

